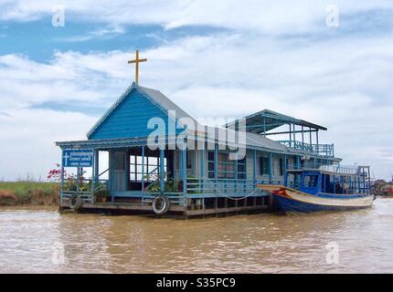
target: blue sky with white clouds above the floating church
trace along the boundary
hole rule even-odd
[[[393,175],[393,2],[0,0],[0,180],[45,179],[134,78],[193,117],[264,109]]]

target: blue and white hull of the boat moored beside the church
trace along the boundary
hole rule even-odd
[[[373,196],[309,194],[284,186],[261,185],[273,196],[273,203],[283,212],[311,213],[319,211],[346,211],[370,207]]]

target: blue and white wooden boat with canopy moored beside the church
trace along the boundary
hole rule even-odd
[[[311,213],[345,211],[370,207],[375,196],[370,192],[368,166],[292,170],[287,173],[292,185],[259,184],[271,193],[282,212]]]

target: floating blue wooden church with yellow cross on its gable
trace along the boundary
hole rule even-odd
[[[295,186],[292,170],[339,164],[334,145],[319,143],[321,130],[272,110],[203,126],[160,91],[133,82],[87,140],[56,142],[62,170],[77,170],[75,178],[62,175],[60,209],[185,216],[265,210],[271,197],[258,184]],[[109,162],[100,172],[103,151]],[[91,177],[83,177],[90,167]]]

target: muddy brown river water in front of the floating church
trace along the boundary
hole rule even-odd
[[[208,219],[0,209],[1,273],[392,273],[393,199]]]

